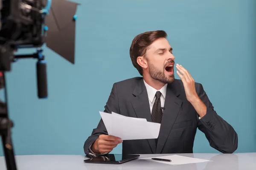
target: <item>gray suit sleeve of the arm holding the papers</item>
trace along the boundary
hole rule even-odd
[[[117,90],[116,90],[116,83],[113,84],[113,88],[111,90],[111,94],[108,98],[108,102],[105,105],[105,110],[104,112],[106,113],[111,113],[112,111],[115,113],[119,113],[119,105],[118,105],[118,98],[117,98]],[[88,139],[84,142],[84,153],[89,156],[92,157],[92,154],[90,154],[90,150],[89,147],[93,144],[93,142],[96,141],[96,139],[99,138],[99,135],[108,135],[107,129],[102,121],[102,119],[100,119],[98,126],[93,129],[93,132],[91,133],[91,135],[88,137]]]

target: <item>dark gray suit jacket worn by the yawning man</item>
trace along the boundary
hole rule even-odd
[[[207,106],[205,116],[198,119],[198,113],[186,99],[182,81],[175,79],[173,83],[167,85],[165,110],[157,145],[155,139],[125,140],[122,143],[122,153],[193,153],[197,128],[205,134],[211,147],[222,153],[233,153],[238,146],[237,133],[214,111],[203,86],[195,83],[195,88],[198,96]],[[124,116],[145,118],[148,122],[152,122],[148,94],[142,77],[113,84],[104,112],[111,113],[111,111]],[[102,119],[84,143],[84,153],[87,156],[90,156],[88,148],[101,134],[108,134]]]

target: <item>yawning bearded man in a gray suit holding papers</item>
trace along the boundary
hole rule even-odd
[[[114,83],[104,111],[161,123],[158,138],[122,141],[108,135],[101,119],[84,143],[87,156],[109,153],[121,142],[123,154],[193,153],[197,128],[216,150],[237,149],[237,133],[217,115],[203,86],[182,65],[175,65],[166,37],[165,31],[148,31],[134,38],[131,61],[142,77]],[[180,79],[175,79],[174,67]]]

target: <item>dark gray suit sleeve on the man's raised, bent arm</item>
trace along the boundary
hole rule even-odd
[[[211,147],[221,153],[233,153],[238,147],[236,131],[221,116],[218,116],[200,83],[198,83],[197,93],[207,107],[206,115],[198,119],[198,129],[205,134]]]

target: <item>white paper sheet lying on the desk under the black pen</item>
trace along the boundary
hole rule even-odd
[[[163,163],[163,164],[172,164],[172,165],[193,164],[193,163],[200,163],[200,162],[210,161],[210,160],[206,160],[206,159],[190,158],[190,157],[187,157],[187,156],[179,156],[179,155],[159,156],[159,157],[152,157],[152,158],[170,159],[172,161],[171,162],[155,161],[151,158],[141,158],[141,159],[145,159],[145,160],[148,160],[148,161],[159,162],[159,163]]]

